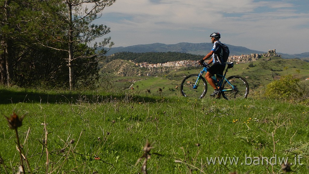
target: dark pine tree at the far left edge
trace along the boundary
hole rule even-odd
[[[16,53],[18,47],[24,47],[29,38],[29,27],[36,11],[33,0],[0,1],[0,83],[12,85],[14,65],[22,53]]]

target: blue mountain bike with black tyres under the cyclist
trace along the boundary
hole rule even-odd
[[[240,76],[230,76],[225,78],[228,69],[234,67],[233,62],[226,62],[227,68],[222,75],[216,74],[217,77],[221,77],[221,80],[217,80],[216,76],[212,76],[214,82],[218,86],[219,94],[223,98],[229,100],[231,98],[247,98],[249,93],[248,82]],[[190,74],[182,80],[180,85],[180,93],[184,97],[203,98],[207,92],[207,81],[202,76],[204,72],[207,72],[210,66],[207,63],[202,64],[203,69],[200,74]]]

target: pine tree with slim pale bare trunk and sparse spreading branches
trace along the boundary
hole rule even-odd
[[[113,42],[110,42],[110,37],[104,38],[101,42],[92,43],[96,38],[110,32],[110,28],[106,25],[92,23],[101,17],[101,12],[105,7],[111,6],[114,2],[115,0],[46,0],[43,9],[48,15],[45,15],[41,20],[53,22],[46,23],[44,28],[42,27],[46,35],[45,38],[48,38],[49,42],[41,41],[41,44],[68,53],[66,61],[69,67],[70,90],[75,84],[74,68],[76,63],[79,63],[80,59],[86,59],[88,62],[83,61],[86,65],[97,63],[101,55],[107,51],[104,46],[109,44],[109,48],[111,48],[113,45]],[[54,21],[57,21],[57,25]],[[61,46],[65,44],[67,47],[52,46],[50,43],[53,42],[57,42]]]

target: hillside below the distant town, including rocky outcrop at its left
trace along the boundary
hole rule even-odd
[[[101,74],[113,77],[117,81],[117,86],[122,86],[128,89],[132,83],[129,81],[136,81],[141,78],[140,83],[135,83],[134,86],[139,86],[140,89],[158,89],[163,88],[165,95],[178,95],[175,86],[180,86],[182,79],[189,74],[197,74],[201,71],[201,66],[191,68],[175,69],[173,67],[158,67],[158,68],[142,68],[134,66],[134,63],[126,60],[113,60],[104,65],[100,69]],[[147,76],[150,74],[150,76]],[[281,76],[294,75],[295,78],[301,79],[301,84],[304,87],[309,85],[305,80],[309,78],[309,62],[301,59],[283,59],[280,57],[261,58],[252,63],[235,64],[233,69],[227,72],[227,77],[232,75],[239,75],[245,77],[249,83],[251,90],[250,95],[263,91],[266,85],[273,80],[280,79]],[[116,76],[116,77],[115,77]],[[141,76],[141,77],[139,77]],[[159,76],[159,78],[155,78]],[[118,79],[121,78],[121,81]],[[165,79],[165,80],[164,80]],[[255,92],[253,92],[255,91]]]

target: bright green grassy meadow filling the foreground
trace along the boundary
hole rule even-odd
[[[157,87],[108,94],[1,87],[0,111],[27,113],[18,128],[27,173],[138,173],[140,157],[148,173],[282,173],[282,158],[309,172],[308,105],[167,96],[169,87],[162,94]],[[17,173],[15,131],[0,120],[0,173]]]

